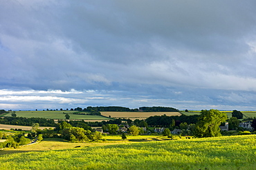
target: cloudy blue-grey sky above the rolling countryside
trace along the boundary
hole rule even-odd
[[[256,110],[255,6],[1,0],[0,109]]]

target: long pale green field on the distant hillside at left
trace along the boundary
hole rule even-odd
[[[103,116],[72,114],[78,111],[16,111],[15,114],[17,114],[17,117],[24,118],[65,119],[65,114],[63,114],[63,112],[68,113],[71,120],[109,120],[109,118]],[[11,116],[11,113],[6,114],[6,116]]]

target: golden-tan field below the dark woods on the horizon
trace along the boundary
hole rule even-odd
[[[135,119],[146,119],[150,116],[181,116],[179,112],[126,112],[126,111],[100,111],[102,116],[111,116],[111,118],[129,118]]]

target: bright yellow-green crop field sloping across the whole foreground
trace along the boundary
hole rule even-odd
[[[40,144],[39,144],[40,145]],[[255,169],[256,136],[230,136],[28,151],[0,157],[0,169]]]

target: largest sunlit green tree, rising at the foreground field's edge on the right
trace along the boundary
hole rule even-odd
[[[199,122],[194,128],[194,136],[199,138],[221,136],[219,125],[227,119],[227,115],[217,109],[201,110]]]

